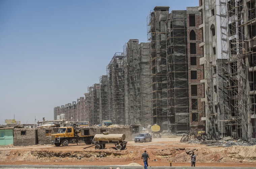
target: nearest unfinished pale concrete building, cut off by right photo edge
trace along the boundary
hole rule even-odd
[[[202,0],[206,133],[255,141],[255,0]]]

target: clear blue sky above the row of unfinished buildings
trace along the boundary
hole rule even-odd
[[[129,39],[147,42],[155,6],[198,0],[0,0],[0,125],[54,120],[100,82]]]

